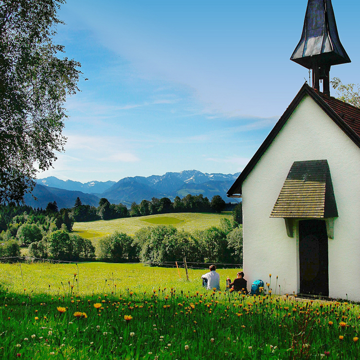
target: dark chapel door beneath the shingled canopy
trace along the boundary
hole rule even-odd
[[[300,292],[329,296],[329,255],[325,220],[299,221]]]

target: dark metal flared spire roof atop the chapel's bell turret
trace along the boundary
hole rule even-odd
[[[290,60],[312,69],[351,62],[339,39],[331,0],[308,0],[303,34]]]

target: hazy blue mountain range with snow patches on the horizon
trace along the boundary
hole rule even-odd
[[[59,208],[70,208],[79,197],[85,205],[97,206],[100,198],[107,198],[111,203],[123,203],[130,207],[133,201],[143,199],[183,198],[187,194],[203,194],[209,200],[220,195],[225,201],[226,192],[239,176],[236,174],[208,174],[198,170],[184,170],[180,173],[168,172],[164,175],[149,177],[135,176],[115,181],[89,181],[82,183],[72,180],[60,180],[48,177],[36,180],[33,195],[25,196],[25,203],[33,207],[45,208],[49,201],[56,201]]]

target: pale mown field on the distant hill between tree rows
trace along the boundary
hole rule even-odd
[[[134,235],[144,226],[173,225],[190,233],[195,230],[205,230],[211,226],[218,226],[221,218],[231,219],[231,213],[207,214],[207,213],[174,213],[158,214],[139,217],[127,217],[123,219],[98,220],[89,222],[75,222],[72,227],[77,234],[88,238],[97,239],[115,231]]]

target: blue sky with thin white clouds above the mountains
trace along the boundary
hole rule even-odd
[[[359,1],[332,3],[352,63],[330,76],[359,83]],[[68,0],[55,42],[82,64],[82,91],[66,103],[65,152],[38,178],[241,171],[308,79],[289,60],[306,4]]]

